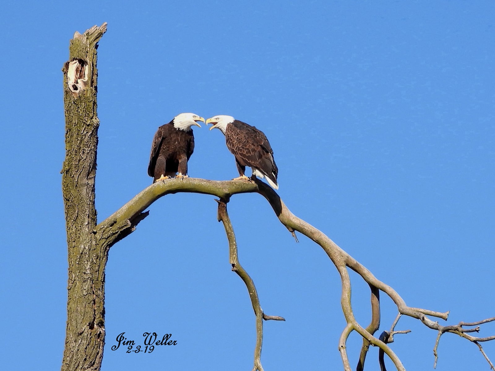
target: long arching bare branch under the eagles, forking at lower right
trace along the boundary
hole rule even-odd
[[[359,364],[357,368],[358,370],[362,370],[364,367],[366,352],[370,344],[373,346],[378,346],[385,354],[387,354],[396,366],[397,370],[405,370],[399,358],[392,351],[389,345],[387,345],[387,342],[390,342],[390,338],[388,338],[386,341],[383,341],[373,336],[374,332],[378,329],[378,326],[380,324],[380,301],[378,291],[384,292],[394,301],[400,315],[406,315],[412,318],[416,318],[420,320],[424,325],[440,331],[441,333],[453,332],[467,340],[474,342],[480,347],[483,355],[493,367],[492,363],[479,345],[479,342],[493,340],[495,339],[495,336],[485,338],[471,336],[468,334],[468,332],[471,332],[471,330],[464,329],[462,326],[469,326],[472,324],[461,323],[454,326],[442,326],[439,325],[438,322],[433,321],[428,317],[431,316],[446,320],[448,317],[448,312],[437,312],[407,306],[405,301],[391,286],[376,278],[366,267],[364,267],[362,264],[357,262],[357,260],[347,254],[347,252],[341,249],[323,232],[319,231],[318,229],[314,228],[310,224],[292,214],[291,211],[286,207],[282,199],[279,197],[279,195],[268,185],[260,181],[209,181],[198,178],[187,178],[184,180],[170,179],[161,181],[144,189],[141,193],[135,196],[117,212],[100,223],[95,228],[94,232],[99,236],[108,236],[106,238],[102,238],[102,241],[104,240],[105,244],[111,245],[112,241],[109,239],[117,238],[121,233],[117,230],[114,230],[116,226],[122,226],[123,223],[130,224],[131,221],[135,221],[137,216],[141,215],[141,213],[155,200],[164,196],[165,194],[177,192],[211,194],[219,197],[225,203],[228,202],[232,195],[237,193],[259,193],[268,200],[280,222],[289,230],[289,232],[291,232],[293,235],[295,235],[296,231],[300,232],[308,238],[312,239],[323,248],[323,250],[326,252],[330,260],[332,260],[335,267],[339,271],[342,279],[341,303],[344,315],[346,317],[347,326],[342,333],[339,350],[341,352],[345,370],[350,370],[346,351],[346,341],[348,335],[354,330],[363,337],[363,347],[361,349]],[[225,220],[227,219],[224,219],[224,222]],[[114,230],[114,233],[110,232],[112,230]],[[129,229],[125,229],[124,232],[129,233],[132,231],[129,231]],[[227,234],[228,233],[229,232],[227,232]],[[347,271],[348,268],[359,274],[361,278],[363,278],[369,284],[372,291],[372,319],[370,325],[368,325],[366,328],[362,327],[354,318],[354,314],[350,304],[351,284]],[[255,313],[256,316],[258,316],[258,313],[262,313],[262,311],[260,310],[260,312],[256,312],[255,309]],[[495,318],[487,319],[474,323],[474,325],[480,325],[494,320]]]

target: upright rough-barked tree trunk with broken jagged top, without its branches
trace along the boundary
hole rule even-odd
[[[97,43],[106,23],[75,33],[64,75],[65,160],[62,193],[69,259],[67,329],[62,371],[99,370],[105,342],[106,248],[96,243],[98,145]]]

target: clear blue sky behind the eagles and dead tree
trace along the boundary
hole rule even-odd
[[[75,31],[108,22],[98,49],[99,221],[151,183],[151,139],[181,112],[232,115],[263,130],[279,194],[300,218],[448,324],[495,316],[493,1],[3,1],[2,369],[59,369],[67,251],[61,175],[63,63]],[[195,128],[192,177],[236,177],[219,131]],[[259,195],[232,198],[241,263],[265,322],[266,371],[340,370],[340,280],[322,249],[296,244]],[[106,268],[102,370],[250,370],[247,290],[230,271],[212,196],[159,199]],[[357,319],[369,292],[355,274]],[[396,309],[382,295],[382,327]],[[433,370],[436,333],[410,319],[392,348]],[[115,337],[172,333],[151,354]],[[495,334],[495,325],[480,335]],[[360,339],[351,335],[355,365]],[[495,343],[484,344],[495,361]],[[446,334],[437,370],[488,370]],[[378,370],[377,349],[367,370]],[[389,363],[390,365],[390,363]],[[390,366],[392,369],[393,367]]]

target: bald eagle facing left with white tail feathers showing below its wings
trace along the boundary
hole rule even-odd
[[[278,168],[270,142],[262,131],[226,115],[213,116],[206,120],[208,124],[213,124],[210,130],[220,129],[225,134],[227,148],[236,157],[240,177],[233,180],[249,179],[244,172],[246,166],[250,166],[253,177],[266,178],[273,188],[278,189]]]

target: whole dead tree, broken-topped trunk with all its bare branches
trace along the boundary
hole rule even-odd
[[[177,192],[204,193],[218,197],[218,220],[223,222],[228,237],[232,270],[246,283],[256,316],[257,341],[254,352],[254,371],[263,370],[260,359],[263,321],[284,319],[263,313],[254,283],[242,268],[237,257],[237,243],[227,213],[227,203],[231,196],[238,193],[258,193],[263,196],[270,203],[280,222],[296,240],[296,232],[312,239],[323,248],[337,268],[342,280],[341,304],[347,321],[339,341],[344,370],[351,370],[346,342],[352,331],[356,331],[363,338],[356,370],[364,369],[364,361],[370,345],[380,348],[382,370],[385,369],[383,363],[385,354],[392,360],[397,370],[405,370],[398,356],[387,345],[393,341],[394,334],[407,332],[407,330],[395,331],[396,323],[402,315],[415,318],[427,327],[438,331],[434,347],[435,357],[437,357],[436,350],[440,337],[446,332],[451,332],[475,343],[490,367],[495,370],[481,346],[481,342],[494,340],[495,336],[480,338],[472,335],[473,332],[479,330],[480,325],[495,321],[495,317],[475,323],[461,322],[448,326],[431,320],[430,317],[446,320],[448,312],[441,313],[406,305],[391,286],[373,276],[366,267],[337,246],[323,232],[292,214],[278,194],[262,182],[221,182],[197,178],[160,181],[148,186],[113,215],[98,224],[95,208],[99,127],[96,49],[105,31],[106,23],[100,27],[94,26],[82,35],[76,32],[70,42],[69,60],[62,69],[66,154],[61,173],[69,260],[67,329],[62,371],[100,369],[105,341],[104,283],[108,250],[117,241],[132,233],[138,223],[148,216],[145,210],[149,205],[166,194]],[[372,313],[367,326],[358,323],[353,315],[350,302],[349,269],[356,272],[370,287]],[[384,331],[376,337],[374,333],[380,325],[380,292],[394,301],[398,314],[391,330]]]

